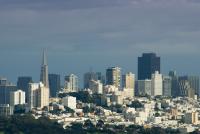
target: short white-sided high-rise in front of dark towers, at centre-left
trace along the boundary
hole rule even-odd
[[[100,82],[100,80],[91,80],[89,82],[89,89],[91,89],[93,93],[103,94],[103,84]]]

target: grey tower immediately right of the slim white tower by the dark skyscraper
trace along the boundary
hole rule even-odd
[[[171,96],[172,78],[170,76],[163,76],[163,95]]]

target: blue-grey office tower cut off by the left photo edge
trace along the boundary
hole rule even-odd
[[[8,82],[6,78],[0,78],[0,104],[10,104],[10,92],[16,90],[16,85]]]

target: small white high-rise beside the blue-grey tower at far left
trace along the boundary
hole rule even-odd
[[[17,90],[10,92],[10,106],[25,104],[25,92]]]

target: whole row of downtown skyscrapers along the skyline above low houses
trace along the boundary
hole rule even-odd
[[[61,86],[59,74],[48,74],[48,64],[45,52],[41,65],[40,82],[33,83],[32,77],[18,77],[17,86],[0,78],[0,104],[15,102],[10,92],[21,89],[25,92],[25,100],[30,108],[43,108],[49,105],[50,97],[57,97],[59,92],[78,92],[92,90],[93,93],[103,94],[108,90],[128,91],[133,96],[186,96],[194,98],[199,95],[198,76],[177,76],[175,71],[169,75],[162,75],[160,71],[160,57],[155,53],[143,53],[138,57],[138,77],[128,72],[121,74],[121,68],[110,67],[106,75],[101,72],[87,72],[84,74],[84,89],[79,89],[78,77],[74,74],[65,76],[64,86]],[[23,92],[19,91],[19,94]],[[16,93],[16,94],[17,94]],[[13,104],[14,105],[14,104]]]

